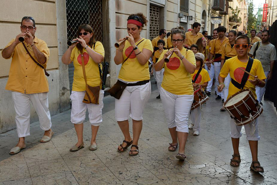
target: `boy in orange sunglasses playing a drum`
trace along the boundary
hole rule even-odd
[[[247,51],[250,47],[250,39],[245,35],[240,35],[235,40],[235,45],[237,56],[232,57],[224,63],[220,74],[218,76],[219,86],[218,91],[222,91],[224,88],[224,80],[227,77],[228,73],[230,73],[231,77],[231,83],[229,86],[229,93],[228,97],[236,94],[238,91],[242,89],[250,89],[252,93],[254,94],[255,98],[255,87],[264,87],[264,83],[261,83],[257,78],[260,78],[264,81],[266,79],[266,76],[264,75],[264,70],[262,68],[262,63],[257,59],[252,59],[248,57]],[[252,65],[252,66],[251,66]],[[244,75],[244,72],[239,68],[243,68],[246,71],[248,70],[252,75],[255,76],[248,76],[248,80],[246,81],[245,85],[242,87],[242,77]],[[250,70],[249,70],[250,69]],[[241,85],[242,83],[242,85]],[[239,166],[240,165],[240,153],[239,153],[239,142],[240,137],[242,136],[242,133],[240,132],[242,129],[242,126],[238,126],[235,124],[235,122],[231,119],[230,122],[231,126],[231,138],[232,138],[232,145],[234,154],[232,155],[232,159],[230,162],[231,166]],[[260,140],[260,136],[258,133],[258,119],[255,119],[253,122],[244,125],[245,133],[246,133],[246,139],[249,142],[251,154],[252,154],[252,164],[250,168],[254,170],[255,172],[264,172],[264,168],[260,166],[260,163],[258,162],[258,140]],[[252,130],[254,130],[252,133]]]

